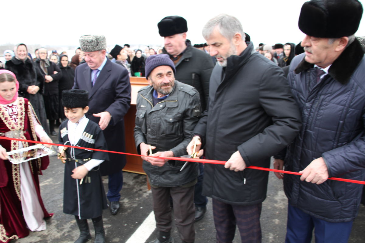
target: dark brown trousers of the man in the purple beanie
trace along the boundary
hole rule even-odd
[[[174,204],[174,217],[181,240],[192,243],[195,240],[194,186],[192,187],[151,187],[153,212],[158,231],[169,232],[172,228],[170,196]]]

